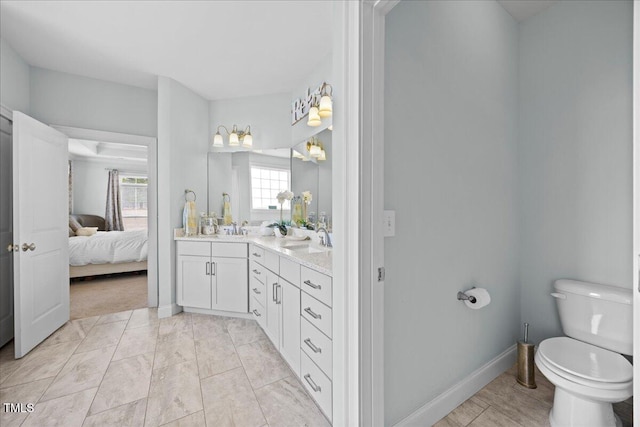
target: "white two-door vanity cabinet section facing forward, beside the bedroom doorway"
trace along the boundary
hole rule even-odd
[[[176,245],[178,305],[249,311],[246,243],[177,241]]]

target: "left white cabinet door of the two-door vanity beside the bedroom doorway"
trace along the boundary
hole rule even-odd
[[[211,258],[180,255],[178,257],[178,305],[211,308]]]

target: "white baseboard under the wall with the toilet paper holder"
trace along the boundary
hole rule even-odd
[[[430,426],[457,408],[462,402],[476,394],[482,387],[509,369],[516,360],[516,346],[513,345],[481,366],[458,384],[436,397],[395,427]]]

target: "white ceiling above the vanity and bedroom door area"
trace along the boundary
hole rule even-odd
[[[331,52],[332,1],[2,0],[0,34],[32,66],[238,98],[304,85]]]

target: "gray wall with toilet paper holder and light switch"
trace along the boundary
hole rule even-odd
[[[515,342],[517,25],[496,2],[401,2],[387,15],[385,425]],[[492,302],[470,310],[472,285]]]

